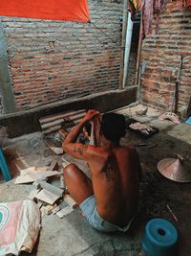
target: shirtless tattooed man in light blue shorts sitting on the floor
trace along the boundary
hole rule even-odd
[[[141,178],[138,152],[131,146],[119,144],[125,135],[123,115],[103,114],[100,128],[99,118],[98,111],[89,110],[62,143],[64,151],[87,161],[92,181],[74,164],[64,169],[64,179],[72,198],[93,227],[103,232],[124,232],[129,229],[138,208]],[[99,139],[101,146],[76,142],[88,122],[94,124],[96,144]]]

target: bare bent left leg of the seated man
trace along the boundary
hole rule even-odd
[[[94,194],[91,180],[76,165],[69,164],[63,174],[70,195],[77,204]]]

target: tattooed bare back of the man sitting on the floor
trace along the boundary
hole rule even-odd
[[[104,220],[123,226],[137,212],[138,153],[132,147],[117,147],[96,148],[95,154],[88,163],[97,212]]]

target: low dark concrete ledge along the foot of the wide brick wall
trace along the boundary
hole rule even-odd
[[[124,105],[130,105],[137,100],[137,87],[127,90],[108,91],[80,100],[58,101],[54,104],[39,106],[36,109],[25,110],[19,113],[0,116],[0,124],[8,128],[10,137],[40,130],[39,118],[59,113],[65,110],[79,110],[96,108],[100,112],[110,111]]]

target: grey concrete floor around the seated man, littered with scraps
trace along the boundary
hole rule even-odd
[[[127,131],[121,143],[126,145],[144,142],[147,143],[147,147],[158,143],[158,146],[151,149],[137,148],[143,169],[143,180],[140,185],[138,216],[129,232],[112,235],[99,233],[89,226],[79,209],[64,219],[54,215],[44,216],[39,241],[32,250],[32,256],[144,255],[140,243],[145,223],[152,218],[165,218],[174,223],[180,234],[180,256],[191,255],[191,186],[169,181],[159,175],[157,170],[160,159],[174,157],[177,153],[184,157],[185,167],[191,170],[191,127],[183,123],[175,125],[171,121],[159,121],[159,111],[150,107],[146,116],[138,117],[135,111],[140,107],[127,107],[119,112],[159,128],[159,133],[149,139],[142,139],[137,134]],[[32,138],[39,135],[39,132],[35,132],[9,141],[10,147],[7,148],[6,154],[14,177],[17,175],[14,160],[19,156],[23,156],[29,166],[47,165],[55,159],[61,168],[60,156],[54,155],[42,138],[38,139],[38,147],[32,148]],[[65,158],[76,163],[88,174],[86,163],[76,161],[69,155],[65,155]],[[1,202],[25,199],[32,190],[32,185],[14,185],[14,179],[10,182],[4,182],[2,176],[0,179]],[[168,211],[167,204],[178,222]]]

